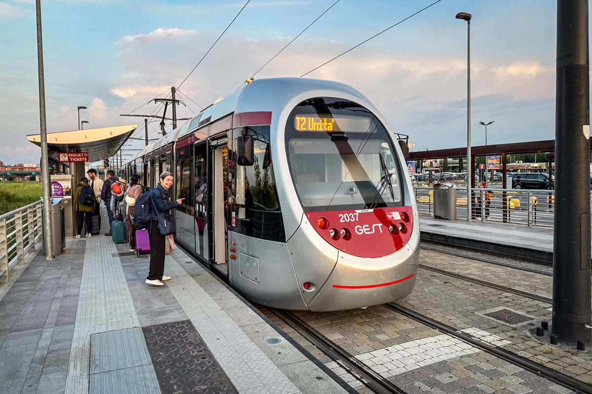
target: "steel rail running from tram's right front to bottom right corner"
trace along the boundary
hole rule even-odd
[[[435,328],[436,330],[444,334],[448,334],[451,337],[458,338],[459,340],[462,340],[465,343],[470,344],[471,346],[477,347],[478,349],[485,351],[486,353],[493,354],[494,356],[500,359],[506,360],[511,364],[514,364],[522,369],[535,373],[537,376],[548,379],[551,382],[564,386],[565,388],[574,390],[577,393],[592,394],[591,385],[581,382],[580,380],[577,380],[574,377],[565,375],[564,373],[558,372],[549,367],[545,367],[542,364],[529,360],[526,357],[519,356],[518,354],[513,353],[509,350],[503,349],[493,344],[485,343],[481,340],[478,340],[475,337],[472,337],[469,334],[463,333],[462,331],[459,331],[456,328],[451,327],[450,325],[447,325],[437,320],[433,320],[432,318],[427,317],[426,315],[420,314],[416,311],[412,311],[406,307],[395,304],[394,302],[383,304],[383,306],[408,318],[419,321],[420,323],[423,323],[428,327]]]

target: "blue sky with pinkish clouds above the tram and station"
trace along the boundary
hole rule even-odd
[[[255,78],[301,76],[434,1],[340,0]],[[143,118],[120,114],[162,114],[146,103],[181,84],[245,2],[41,1],[47,131],[77,129],[86,106],[85,128],[138,122],[143,137]],[[232,93],[334,2],[251,0],[180,87],[178,118]],[[494,121],[488,144],[553,139],[556,1],[441,0],[307,77],[358,89],[413,150],[466,146],[461,11],[472,14],[472,145],[485,142],[479,121]],[[0,0],[0,92],[0,160],[38,163],[25,137],[40,131],[34,0]]]

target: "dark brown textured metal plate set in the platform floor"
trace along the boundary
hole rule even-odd
[[[163,393],[237,393],[191,321],[142,330]]]

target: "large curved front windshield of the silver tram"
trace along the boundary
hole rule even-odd
[[[391,138],[359,104],[329,97],[300,103],[288,118],[286,150],[305,211],[403,204]]]

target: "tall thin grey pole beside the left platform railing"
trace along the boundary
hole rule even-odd
[[[53,260],[52,201],[49,183],[49,154],[47,152],[47,125],[45,121],[45,80],[43,73],[43,39],[41,37],[41,0],[36,0],[37,10],[37,70],[39,79],[39,125],[41,128],[41,184],[43,185],[43,235],[45,259]]]

